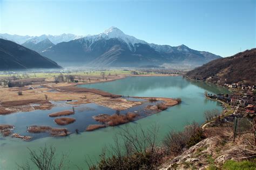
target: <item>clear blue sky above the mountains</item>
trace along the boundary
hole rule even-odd
[[[87,35],[116,26],[147,42],[230,56],[255,47],[255,8],[256,0],[0,0],[0,33]]]

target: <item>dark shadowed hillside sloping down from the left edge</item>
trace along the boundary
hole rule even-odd
[[[15,42],[0,39],[0,70],[61,68],[56,62]]]

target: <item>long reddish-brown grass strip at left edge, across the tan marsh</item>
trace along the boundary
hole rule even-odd
[[[39,100],[39,99],[29,99],[29,100],[19,100],[19,101],[6,101],[2,102],[3,107],[14,107],[19,105],[28,105],[28,104],[50,104],[51,102],[46,100]]]

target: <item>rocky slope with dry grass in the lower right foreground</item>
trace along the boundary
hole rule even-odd
[[[235,139],[235,142],[233,142],[232,131],[231,133],[220,133],[226,133],[228,135],[225,137],[214,136],[201,140],[182,154],[166,161],[159,169],[206,169],[208,166],[221,168],[227,160],[241,161],[255,157],[255,146],[252,146],[248,140],[245,140],[250,139],[254,141],[253,133],[243,134]]]

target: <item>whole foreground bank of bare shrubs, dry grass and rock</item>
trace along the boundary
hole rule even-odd
[[[191,123],[184,131],[171,131],[163,141],[159,141],[157,125],[147,129],[125,126],[114,136],[114,144],[104,148],[98,161],[86,156],[85,164],[88,167],[77,168],[254,169],[256,146],[250,142],[253,141],[253,135],[243,134],[233,143],[232,131],[221,129],[203,130],[197,123]],[[29,152],[30,159],[26,164],[18,165],[19,169],[31,169],[31,166],[38,169],[69,169],[68,155],[62,154],[57,159],[52,146]]]

